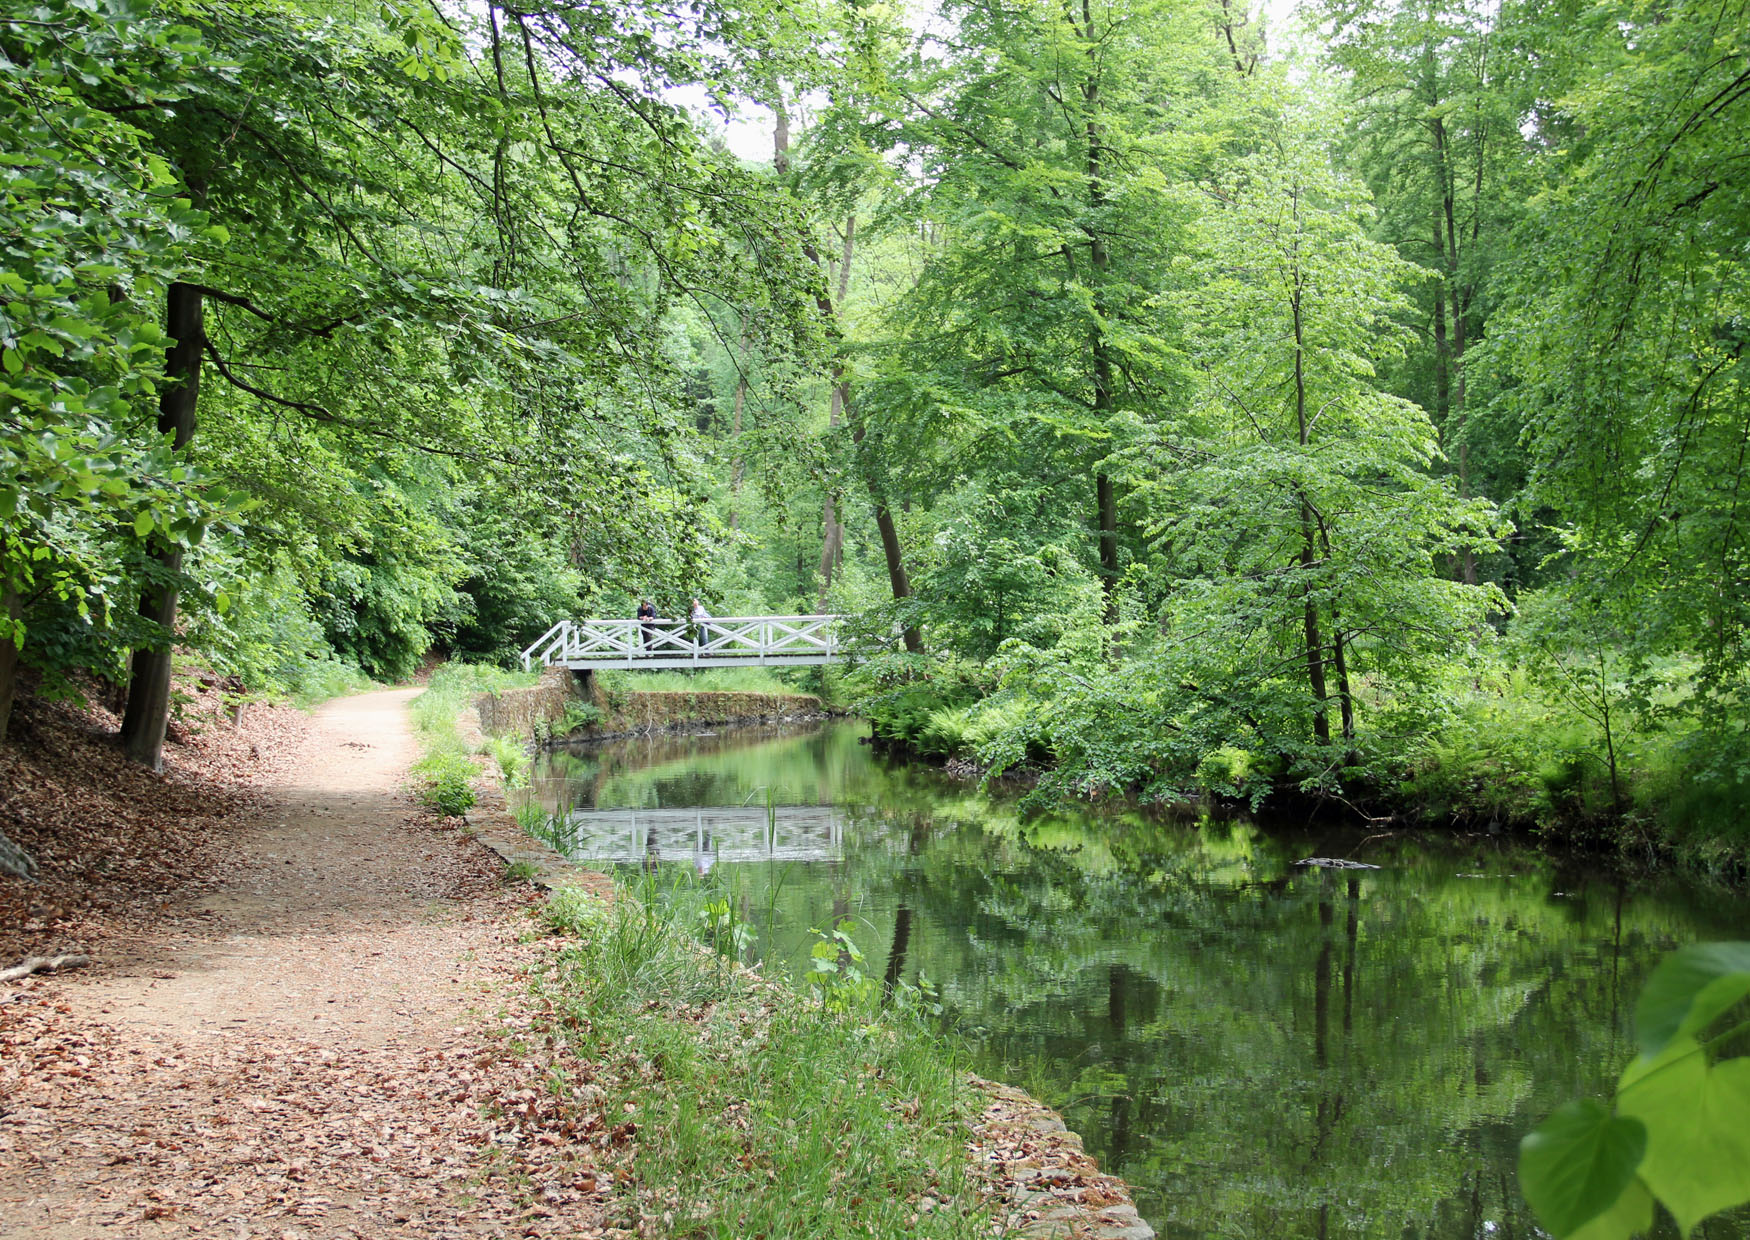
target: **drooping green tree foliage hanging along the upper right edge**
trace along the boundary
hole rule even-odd
[[[1619,602],[1622,656],[1694,654],[1694,708],[1741,714],[1750,458],[1743,343],[1750,192],[1715,175],[1750,122],[1743,14],[1684,2],[1530,9],[1545,187],[1531,199],[1482,355],[1522,435],[1526,507],[1552,565]],[[1552,234],[1559,247],[1542,243]]]

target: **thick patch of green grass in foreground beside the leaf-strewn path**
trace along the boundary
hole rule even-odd
[[[989,1231],[966,1177],[971,1095],[922,1016],[796,995],[646,895],[555,897],[576,943],[537,983],[578,1053],[609,1069],[604,1112],[637,1125],[625,1210],[677,1240]]]

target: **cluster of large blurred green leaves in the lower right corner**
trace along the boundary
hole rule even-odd
[[[1690,1235],[1750,1202],[1750,1058],[1724,1055],[1750,1030],[1746,995],[1750,943],[1694,944],[1654,969],[1615,1105],[1572,1102],[1519,1146],[1526,1200],[1558,1240],[1643,1233],[1656,1200]]]

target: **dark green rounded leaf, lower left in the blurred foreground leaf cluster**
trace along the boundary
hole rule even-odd
[[[1617,1207],[1645,1153],[1640,1119],[1570,1102],[1519,1142],[1519,1188],[1538,1223],[1564,1240]]]

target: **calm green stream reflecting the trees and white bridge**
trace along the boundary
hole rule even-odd
[[[1164,1237],[1540,1235],[1519,1137],[1610,1088],[1666,950],[1750,937],[1741,895],[1488,838],[1026,819],[861,735],[607,743],[536,789],[576,857],[721,885],[772,965],[849,918],[864,969],[938,986],[973,1067],[1062,1111]]]

